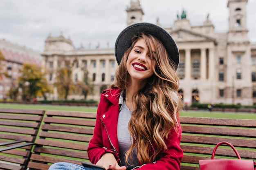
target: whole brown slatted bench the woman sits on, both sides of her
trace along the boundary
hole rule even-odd
[[[96,113],[46,112],[39,138],[28,164],[29,170],[47,170],[52,163],[89,161],[88,141],[92,138]],[[242,159],[256,159],[256,120],[180,117],[181,147],[184,150],[181,170],[199,170],[200,159],[210,159],[220,141],[233,144]],[[220,147],[216,158],[234,158],[231,148]]]

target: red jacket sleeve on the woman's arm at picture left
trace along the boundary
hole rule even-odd
[[[87,153],[89,160],[91,163],[96,164],[101,156],[106,153],[114,153],[112,150],[108,150],[108,148],[103,146],[102,140],[102,123],[101,123],[101,102],[99,102],[99,106],[97,109],[97,117],[96,117],[96,124],[94,128],[94,133],[92,139],[89,141]]]

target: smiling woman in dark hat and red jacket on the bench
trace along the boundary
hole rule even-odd
[[[101,94],[90,161],[106,170],[179,170],[177,45],[161,27],[142,22],[119,34],[115,55],[119,68],[115,83]],[[68,165],[55,163],[49,170]]]

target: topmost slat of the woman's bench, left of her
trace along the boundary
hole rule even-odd
[[[67,116],[67,117],[83,117],[83,118],[96,118],[96,113],[90,112],[72,112],[72,111],[59,111],[47,110],[47,116]]]

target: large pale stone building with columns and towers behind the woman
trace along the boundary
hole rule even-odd
[[[202,25],[192,26],[185,12],[181,18],[177,16],[173,27],[165,28],[180,50],[177,75],[184,103],[256,103],[256,44],[248,40],[246,5],[247,0],[228,0],[229,30],[225,33],[216,33],[208,16]],[[131,1],[126,11],[127,25],[142,21],[144,12],[139,0]],[[88,73],[94,85],[89,99],[99,99],[101,91],[113,82],[118,67],[114,49],[76,50],[62,35],[49,36],[42,55],[43,68],[52,85],[56,69],[64,60],[75,63],[74,82],[82,81]],[[58,98],[56,89],[51,97]]]

